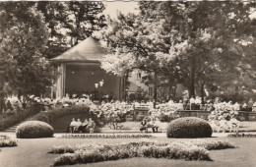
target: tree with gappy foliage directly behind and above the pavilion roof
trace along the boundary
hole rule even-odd
[[[45,55],[53,58],[105,27],[101,2],[38,2],[50,31]]]

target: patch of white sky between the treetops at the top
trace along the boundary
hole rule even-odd
[[[103,2],[105,10],[103,11],[104,15],[109,15],[111,19],[116,18],[117,11],[122,14],[128,13],[138,13],[138,2],[134,1],[115,1],[115,2]]]

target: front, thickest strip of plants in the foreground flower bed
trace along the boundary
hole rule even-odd
[[[183,143],[158,145],[147,142],[130,142],[115,145],[81,145],[75,153],[65,153],[55,159],[54,165],[93,163],[133,157],[168,158],[184,160],[210,160],[208,151],[203,147],[192,148]]]

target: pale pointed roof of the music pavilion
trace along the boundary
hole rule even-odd
[[[106,50],[93,37],[88,37],[51,60],[58,62],[98,62],[105,54]]]

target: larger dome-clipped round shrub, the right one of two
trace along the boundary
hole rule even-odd
[[[166,133],[167,138],[210,138],[213,130],[201,118],[184,117],[171,121]]]

